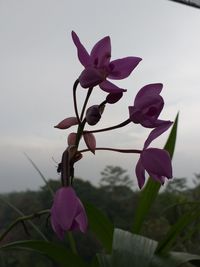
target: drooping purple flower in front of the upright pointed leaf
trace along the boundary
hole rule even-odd
[[[161,184],[164,184],[165,178],[172,178],[172,164],[168,151],[159,148],[148,148],[150,143],[159,135],[164,133],[171,125],[172,122],[166,122],[165,124],[155,128],[151,131],[144,143],[144,148],[135,168],[140,189],[145,183],[145,171],[147,171],[152,179],[160,182]]]

